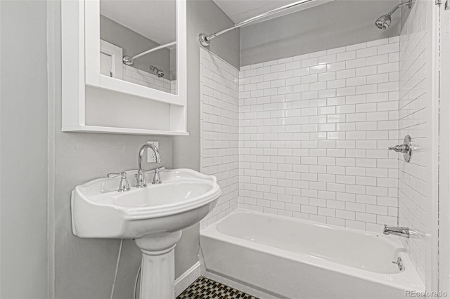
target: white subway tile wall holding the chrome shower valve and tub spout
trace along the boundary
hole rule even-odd
[[[400,35],[400,100],[399,100],[399,142],[404,135],[411,135],[416,145],[427,145],[427,113],[430,112],[431,96],[427,93],[427,75],[430,65],[426,55],[427,27],[424,25],[430,16],[427,1],[414,3],[411,13]],[[426,230],[426,187],[427,157],[424,147],[414,150],[409,163],[399,159],[399,225],[418,232]],[[425,239],[401,238],[425,282]]]

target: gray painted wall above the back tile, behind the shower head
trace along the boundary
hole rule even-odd
[[[335,0],[240,29],[240,65],[252,65],[400,34],[400,11],[387,30],[375,20],[397,0]],[[214,39],[217,42],[221,37]]]

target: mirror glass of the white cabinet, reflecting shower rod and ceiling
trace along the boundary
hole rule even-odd
[[[176,0],[100,0],[101,74],[177,94]]]

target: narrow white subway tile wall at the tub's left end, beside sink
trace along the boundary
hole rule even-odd
[[[238,207],[238,69],[200,49],[200,170],[216,175],[222,189],[206,227]]]

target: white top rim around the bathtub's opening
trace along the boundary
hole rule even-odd
[[[290,218],[285,217],[283,215],[275,215],[271,213],[262,213],[258,211],[252,211],[244,208],[237,208],[236,210],[232,211],[228,215],[226,215],[224,218],[221,218],[220,220],[217,220],[216,222],[212,223],[208,227],[205,227],[203,230],[200,230],[200,250],[203,251],[201,246],[201,239],[202,237],[207,237],[210,239],[214,239],[217,241],[223,241],[228,244],[232,245],[238,245],[243,246],[244,248],[248,248],[250,250],[259,251],[262,253],[266,253],[269,255],[275,255],[278,258],[285,258],[293,260],[297,263],[304,263],[307,265],[311,265],[314,267],[321,267],[325,270],[329,270],[332,272],[338,272],[340,274],[346,274],[351,277],[364,277],[364,279],[367,279],[368,281],[371,281],[373,283],[378,284],[385,284],[386,286],[390,286],[392,288],[400,288],[404,290],[415,290],[415,291],[425,291],[425,284],[423,284],[423,281],[420,279],[418,272],[416,271],[415,267],[413,267],[413,264],[411,262],[411,259],[409,258],[408,253],[406,252],[406,249],[401,244],[401,241],[399,240],[399,237],[395,236],[385,236],[383,234],[378,234],[380,238],[380,241],[386,241],[393,246],[396,246],[397,248],[402,248],[404,251],[399,252],[399,256],[401,257],[401,260],[404,263],[405,270],[399,273],[394,274],[385,274],[385,273],[379,273],[379,272],[372,272],[369,270],[364,270],[357,267],[352,267],[349,265],[344,265],[340,263],[335,263],[331,260],[323,260],[316,257],[312,257],[311,255],[302,254],[302,253],[295,253],[293,251],[288,251],[282,248],[277,248],[274,246],[269,246],[266,244],[261,244],[257,242],[248,241],[245,239],[240,239],[238,237],[233,237],[228,234],[223,234],[217,230],[217,225],[219,225],[220,222],[223,222],[224,220],[230,218],[232,215],[243,213],[243,214],[257,214],[257,215],[263,215],[265,217],[272,217],[272,218],[278,218],[283,220],[288,220],[292,222],[299,222],[305,225],[319,225],[321,227],[329,227],[333,230],[341,230],[345,232],[354,232],[356,234],[370,234],[375,235],[378,234],[376,232],[368,232],[364,230],[356,230],[350,227],[340,227],[337,225],[328,225],[321,222],[315,222],[312,220],[304,220],[304,219],[298,219],[298,218]],[[204,253],[203,253],[204,254]],[[202,255],[203,255],[202,254]],[[205,260],[202,260],[202,263],[205,264]],[[208,271],[207,265],[203,265],[205,267],[205,270]]]

